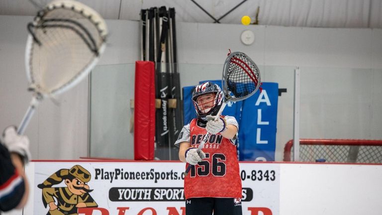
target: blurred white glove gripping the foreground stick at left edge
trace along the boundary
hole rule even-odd
[[[15,126],[8,126],[2,133],[4,145],[9,152],[17,153],[23,158],[24,164],[30,159],[29,139],[27,136],[18,135]]]

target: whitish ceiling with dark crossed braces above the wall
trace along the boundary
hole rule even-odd
[[[0,15],[35,15],[49,0],[0,0]],[[214,20],[191,0],[79,0],[97,10],[105,19],[138,20],[141,8],[153,6],[175,7],[176,19],[182,22],[213,23]],[[194,0],[218,19],[243,0]],[[259,24],[382,28],[382,0],[246,0],[220,20],[221,23],[240,24],[248,15],[255,20],[260,7]]]

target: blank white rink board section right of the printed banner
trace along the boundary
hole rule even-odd
[[[281,164],[280,215],[380,214],[381,165]]]

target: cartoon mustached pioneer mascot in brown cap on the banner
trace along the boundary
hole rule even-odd
[[[78,208],[96,208],[98,205],[90,196],[88,182],[91,174],[80,165],[71,169],[61,169],[47,178],[37,187],[42,189],[42,202],[46,208],[49,205],[47,215],[77,215]],[[66,187],[52,187],[62,181]],[[56,200],[56,202],[55,202]]]

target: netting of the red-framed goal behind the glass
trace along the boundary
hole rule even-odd
[[[290,150],[293,157],[293,147]],[[333,163],[382,163],[382,145],[300,145],[299,161]]]

